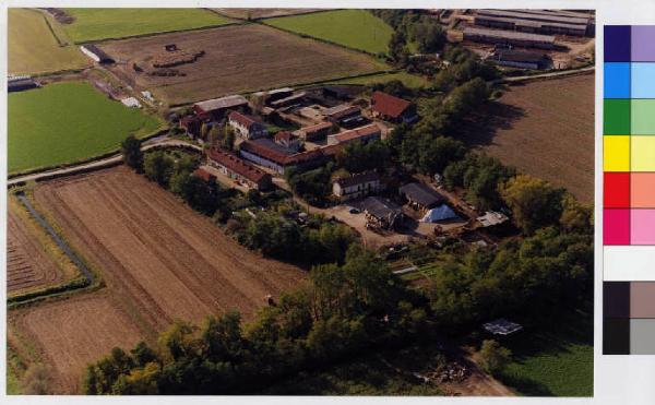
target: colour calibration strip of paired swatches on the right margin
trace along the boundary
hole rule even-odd
[[[655,355],[655,26],[605,26],[603,353]]]

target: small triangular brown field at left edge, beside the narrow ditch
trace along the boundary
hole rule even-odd
[[[7,291],[21,294],[61,283],[64,276],[13,209],[7,216]]]

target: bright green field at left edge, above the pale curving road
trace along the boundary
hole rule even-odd
[[[145,135],[162,124],[83,82],[11,93],[8,116],[10,174],[108,153],[130,133]]]

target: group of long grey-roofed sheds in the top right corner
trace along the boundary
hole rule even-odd
[[[546,69],[558,39],[577,41],[595,33],[593,12],[563,10],[431,10],[453,40],[492,46],[486,58],[499,65]]]

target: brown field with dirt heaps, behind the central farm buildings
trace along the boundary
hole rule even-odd
[[[175,75],[148,74],[152,60],[169,44],[182,50],[201,49],[205,55],[176,67]],[[110,69],[121,80],[152,91],[169,105],[382,69],[366,55],[260,24],[109,41],[102,48],[118,61]],[[135,71],[134,63],[143,71]]]

